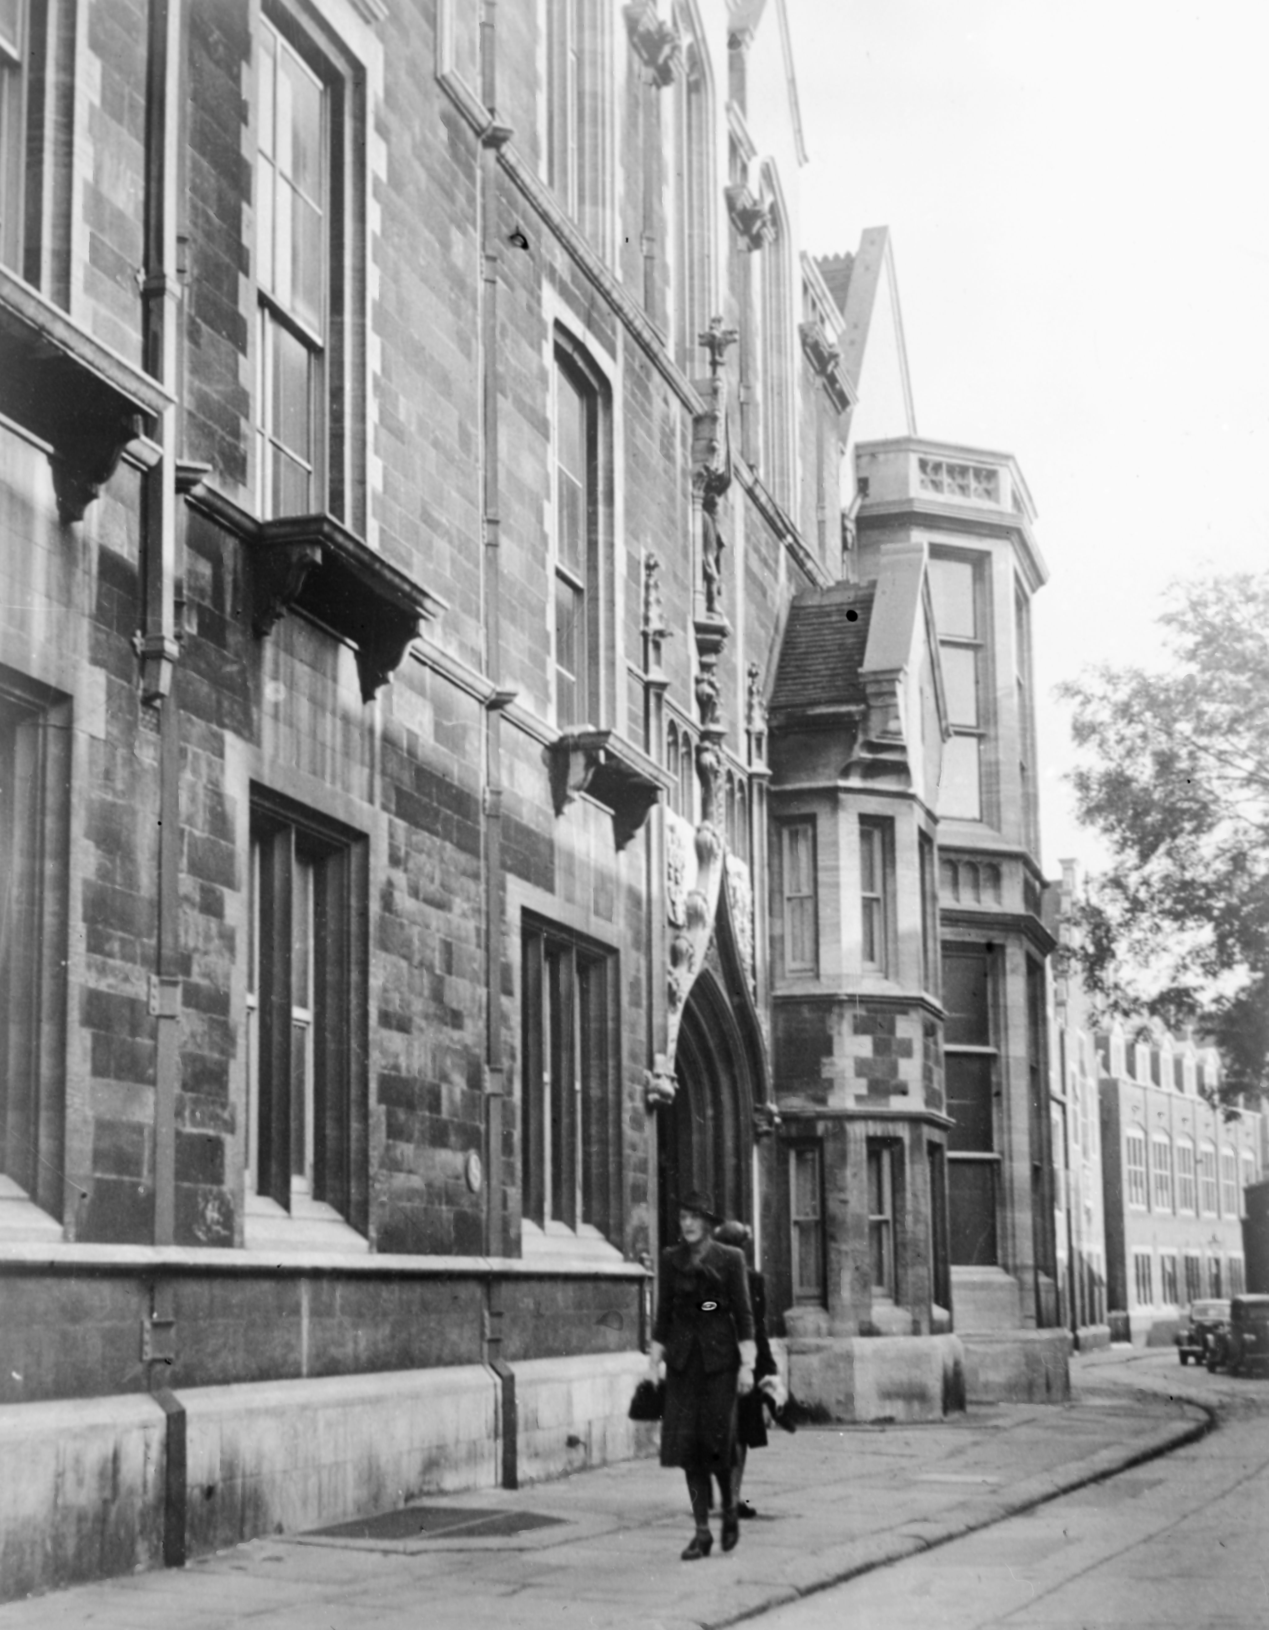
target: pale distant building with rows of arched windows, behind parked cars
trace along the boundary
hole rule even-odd
[[[1096,1046],[1111,1332],[1166,1345],[1196,1297],[1246,1288],[1241,1218],[1262,1175],[1262,1115],[1215,1108],[1217,1051],[1163,1025],[1114,1024]]]

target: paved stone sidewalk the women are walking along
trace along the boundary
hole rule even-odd
[[[1111,1372],[1113,1371],[1113,1372]],[[700,1630],[999,1522],[1201,1436],[1207,1413],[1075,1364],[1065,1407],[974,1408],[929,1426],[803,1428],[749,1457],[759,1509],[723,1557],[683,1563],[683,1477],[653,1460],[435,1501],[554,1518],[502,1539],[252,1540],[186,1570],[0,1606],[0,1630]],[[458,1521],[450,1518],[450,1522]],[[477,1521],[472,1518],[472,1521]],[[715,1521],[717,1531],[717,1521]]]

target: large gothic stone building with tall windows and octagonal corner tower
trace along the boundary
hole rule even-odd
[[[1043,1322],[1030,509],[803,161],[780,0],[0,7],[7,1591],[637,1452],[687,1185],[847,1413]]]

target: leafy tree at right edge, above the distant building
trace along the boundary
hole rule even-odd
[[[1103,1009],[1210,1037],[1232,1100],[1269,1089],[1269,572],[1173,584],[1158,621],[1160,672],[1059,691],[1078,817],[1113,856],[1070,955]]]

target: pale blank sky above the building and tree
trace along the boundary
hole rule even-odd
[[[1044,866],[1106,861],[1054,686],[1269,566],[1269,5],[788,0],[815,254],[889,227],[917,430],[1017,456]]]

